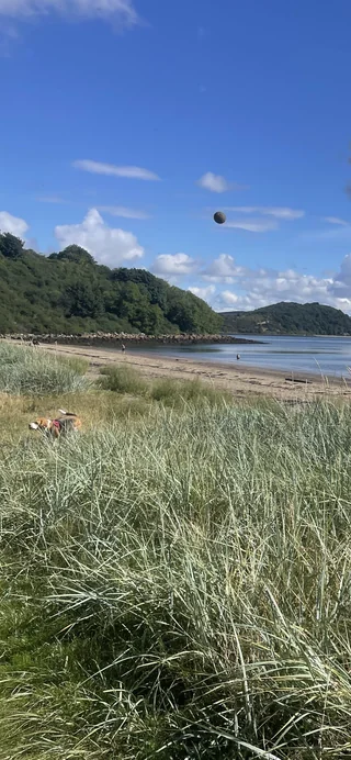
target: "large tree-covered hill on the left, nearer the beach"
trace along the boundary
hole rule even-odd
[[[42,256],[0,235],[0,332],[215,333],[222,317],[145,269],[109,269],[71,245]]]

